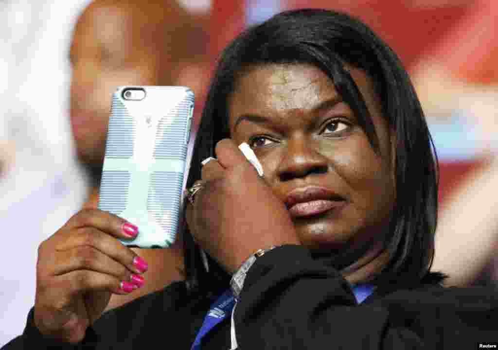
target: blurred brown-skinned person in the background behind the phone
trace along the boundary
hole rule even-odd
[[[97,208],[109,110],[118,86],[185,85],[202,101],[209,78],[207,19],[175,0],[96,0],[79,17],[70,49],[70,121],[78,159],[92,180],[85,207]],[[108,309],[184,278],[180,240],[168,249],[134,250],[149,265],[144,285],[113,295]]]

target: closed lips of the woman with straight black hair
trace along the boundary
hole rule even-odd
[[[293,218],[319,215],[346,204],[346,200],[328,188],[300,187],[292,190],[285,199],[285,206]]]

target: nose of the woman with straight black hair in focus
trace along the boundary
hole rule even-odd
[[[315,142],[305,137],[289,139],[277,168],[282,182],[311,174],[325,174],[327,171],[328,158],[319,152]]]

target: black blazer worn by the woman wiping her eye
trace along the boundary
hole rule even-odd
[[[76,346],[43,337],[31,310],[2,349],[188,350],[210,304],[175,282],[105,313]],[[239,349],[480,349],[498,342],[498,289],[393,285],[358,305],[337,270],[282,246],[249,270],[234,320]],[[202,349],[230,349],[230,327],[228,317]]]

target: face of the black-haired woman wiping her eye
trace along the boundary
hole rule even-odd
[[[368,243],[372,255],[394,206],[392,134],[371,79],[346,68],[370,111],[379,152],[332,81],[306,64],[248,68],[229,99],[230,132],[254,150],[302,244],[340,252]]]

